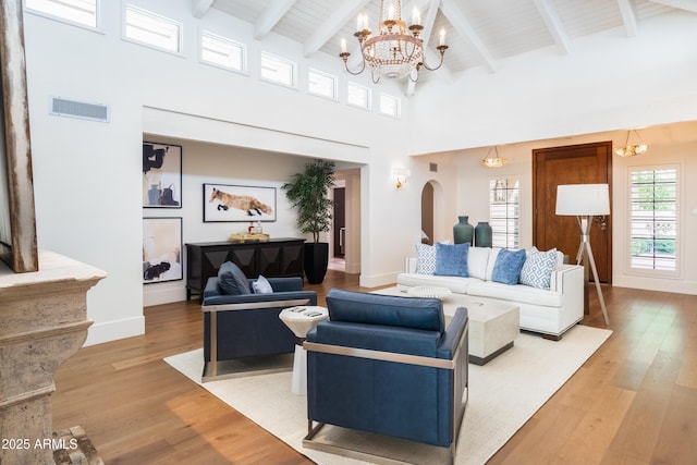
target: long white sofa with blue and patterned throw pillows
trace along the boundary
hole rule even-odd
[[[454,293],[515,303],[521,308],[521,329],[560,339],[584,317],[584,269],[563,265],[558,252],[550,289],[491,281],[500,248],[472,247],[467,257],[469,278],[417,273],[417,258],[405,260],[405,272],[396,279],[399,286],[435,285]]]

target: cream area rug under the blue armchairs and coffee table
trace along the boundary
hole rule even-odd
[[[512,348],[485,366],[469,365],[469,397],[460,433],[457,465],[489,460],[549,397],[603,344],[612,331],[576,326],[561,341],[521,333]],[[203,350],[164,360],[200,383]],[[359,464],[303,448],[307,433],[307,404],[291,393],[291,372],[248,376],[200,384],[231,407],[318,464]],[[444,463],[445,450],[377,435],[362,436],[327,427],[332,440],[355,442],[358,449],[379,452],[416,464]]]

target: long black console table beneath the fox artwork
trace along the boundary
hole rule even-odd
[[[186,298],[203,295],[208,278],[232,261],[254,279],[303,277],[304,238],[272,238],[265,242],[203,242],[186,244]]]

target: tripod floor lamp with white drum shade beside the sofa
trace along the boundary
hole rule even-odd
[[[576,217],[580,229],[580,245],[576,255],[576,264],[580,265],[584,257],[590,262],[592,277],[596,280],[596,291],[606,325],[610,325],[606,301],[602,297],[596,259],[590,248],[590,228],[595,216],[610,215],[610,196],[608,184],[567,184],[557,187],[557,215]]]

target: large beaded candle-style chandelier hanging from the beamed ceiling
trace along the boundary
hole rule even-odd
[[[345,39],[341,39],[339,57],[344,61],[346,71],[353,75],[363,73],[367,64],[372,74],[372,82],[376,84],[382,76],[388,78],[408,76],[409,79],[416,82],[421,66],[436,71],[443,64],[443,54],[448,49],[445,32],[441,30],[440,41],[436,47],[440,52],[440,63],[435,68],[428,66],[425,63],[424,40],[419,37],[423,29],[421,16],[416,9],[412,14],[412,25],[407,26],[402,20],[402,1],[382,0],[377,35],[371,35],[368,27],[368,16],[366,14],[358,15],[357,30],[354,36],[358,39],[363,54],[360,70],[353,72],[348,69],[347,60],[351,53],[346,51]]]

